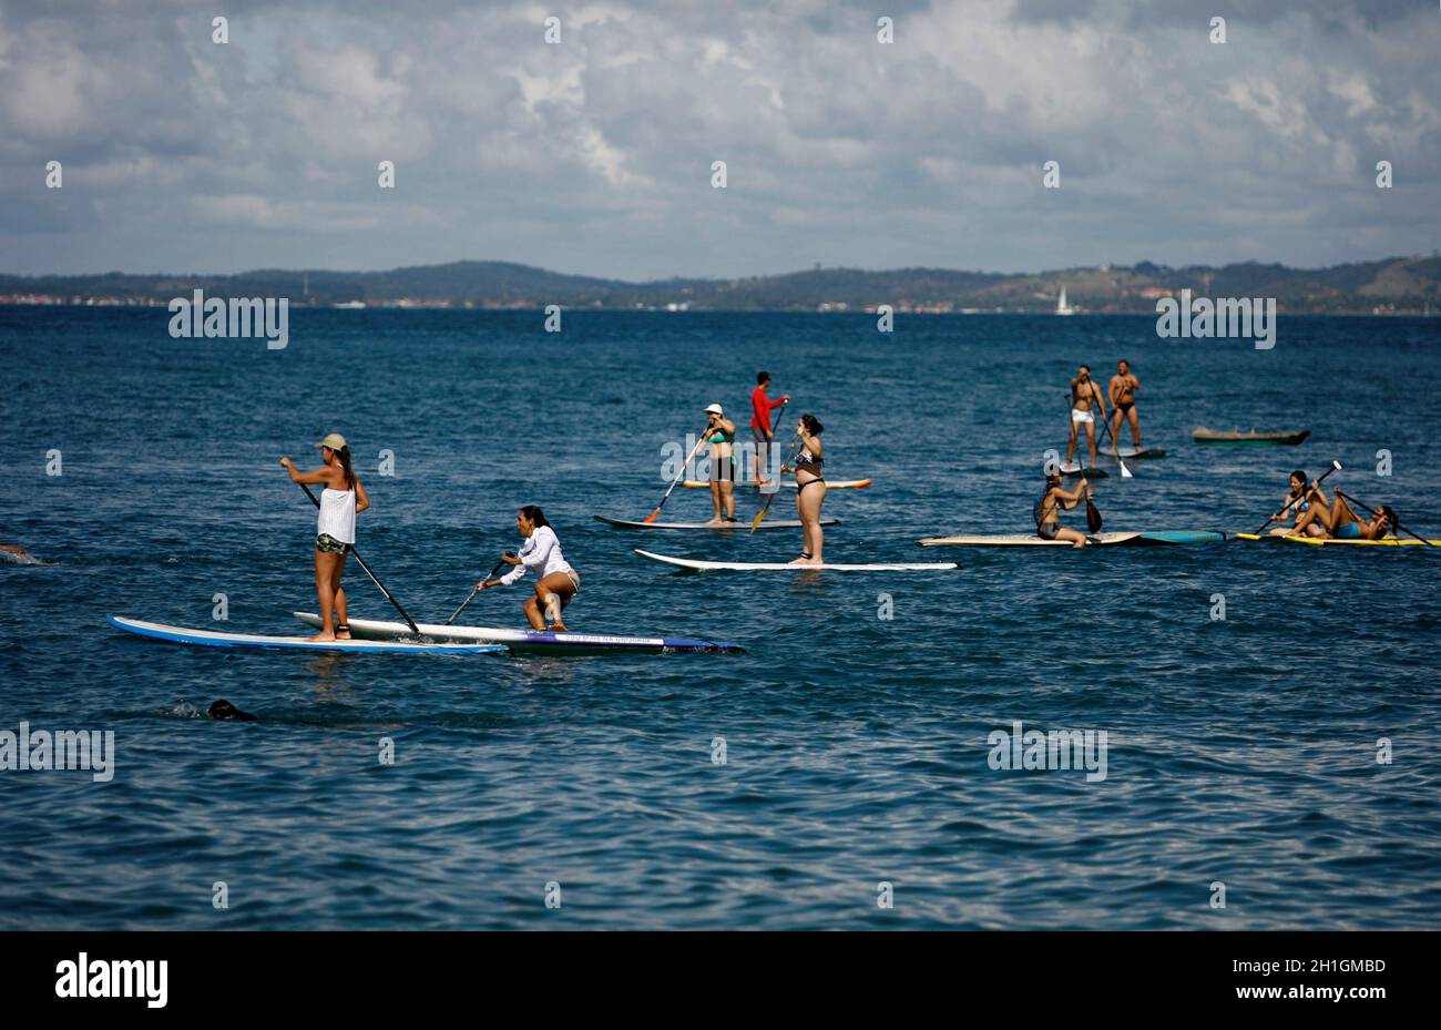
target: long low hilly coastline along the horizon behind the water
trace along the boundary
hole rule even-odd
[[[167,303],[203,290],[215,297],[288,297],[294,304],[452,304],[473,307],[666,308],[705,311],[866,310],[1043,313],[1061,288],[1085,311],[1154,311],[1156,298],[1183,288],[1197,297],[1275,297],[1282,311],[1366,314],[1441,310],[1441,258],[1388,258],[1334,268],[1246,262],[1223,268],[1068,268],[1035,275],[944,268],[816,268],[744,279],[623,282],[561,275],[504,261],[457,261],[388,272],[256,269],[238,275],[0,275],[0,300],[49,297]]]

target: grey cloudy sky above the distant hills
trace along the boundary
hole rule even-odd
[[[640,279],[1429,252],[1438,9],[0,0],[0,271],[474,258]]]

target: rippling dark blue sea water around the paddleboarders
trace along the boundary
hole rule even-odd
[[[0,543],[46,562],[0,562],[0,730],[110,729],[117,748],[105,784],[0,771],[3,928],[1424,928],[1441,913],[1441,555],[915,547],[1027,532],[1075,364],[1104,379],[1118,357],[1143,383],[1146,444],[1169,457],[1097,484],[1108,530],[1254,530],[1291,468],[1336,458],[1331,483],[1441,536],[1441,321],[1282,318],[1270,351],[1161,341],[1137,317],[902,317],[880,336],[859,314],[568,313],[546,334],[535,313],[295,310],[284,350],[171,340],[166,321],[0,308]],[[661,447],[712,400],[745,412],[761,367],[790,413],[826,424],[831,478],[875,478],[831,491],[827,557],[960,570],[684,576],[631,549],[774,560],[800,534],[591,520],[644,517]],[[1313,435],[1216,449],[1190,442],[1197,425]],[[297,632],[314,513],[277,460],[308,461],[334,429],[373,498],[360,553],[416,618],[454,611],[535,503],[584,578],[574,630],[746,653],[317,657],[105,625]],[[666,511],[705,519],[709,503],[677,490]],[[353,614],[391,618],[353,565],[347,585]],[[228,624],[212,622],[216,594]],[[464,621],[519,627],[523,598],[487,592]],[[218,697],[261,720],[200,717]],[[1105,779],[991,769],[989,735],[1014,720],[1105,730]]]

